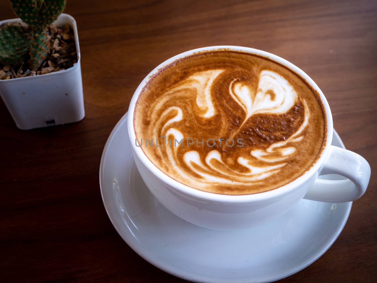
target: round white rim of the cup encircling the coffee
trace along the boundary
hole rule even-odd
[[[137,147],[135,143],[133,142],[136,138],[135,129],[133,126],[133,115],[134,115],[136,101],[139,97],[141,90],[144,88],[146,83],[150,80],[152,75],[154,75],[160,68],[166,65],[169,65],[170,63],[172,63],[173,61],[177,59],[187,57],[197,52],[218,51],[218,50],[247,52],[250,54],[266,57],[270,60],[273,60],[274,62],[277,62],[281,65],[286,66],[291,71],[300,75],[314,90],[318,92],[320,99],[322,101],[322,104],[325,108],[325,114],[326,114],[327,133],[326,133],[325,148],[322,150],[320,157],[317,158],[317,160],[314,162],[311,168],[308,171],[306,171],[304,174],[299,176],[298,178],[291,181],[290,183],[284,186],[281,186],[279,188],[273,189],[271,191],[259,192],[259,193],[254,193],[254,194],[246,194],[246,195],[225,195],[225,194],[217,194],[217,193],[212,193],[212,192],[201,191],[199,189],[195,189],[190,186],[184,185],[180,183],[179,181],[173,179],[172,177],[168,176],[164,172],[162,172],[156,165],[152,163],[152,161],[149,160],[149,158],[144,154],[144,151],[141,149],[141,147]],[[328,155],[328,152],[331,146],[331,141],[333,138],[333,118],[331,115],[330,107],[325,98],[325,95],[323,95],[323,92],[320,90],[317,84],[304,71],[302,71],[300,68],[293,65],[292,63],[288,62],[287,60],[277,55],[271,54],[269,52],[262,51],[259,49],[249,48],[249,47],[233,46],[233,45],[218,45],[218,46],[208,46],[208,47],[203,47],[203,48],[192,49],[186,52],[182,52],[181,54],[175,55],[167,59],[166,61],[162,62],[161,64],[159,64],[143,79],[143,81],[139,84],[138,88],[134,92],[132,99],[130,101],[127,120],[128,120],[127,121],[128,132],[129,132],[129,137],[131,140],[133,151],[137,155],[137,157],[140,159],[140,161],[144,164],[144,166],[146,166],[147,169],[149,169],[149,171],[153,175],[155,175],[157,178],[159,178],[159,180],[163,181],[167,185],[170,185],[180,194],[183,194],[187,197],[193,197],[202,201],[213,201],[213,202],[220,202],[220,203],[232,203],[232,204],[250,203],[250,202],[256,202],[256,201],[261,201],[261,200],[267,200],[270,198],[279,197],[279,196],[288,194],[289,192],[293,191],[294,189],[298,188],[300,185],[305,183],[314,174],[316,174],[316,172],[320,169],[320,166],[325,161],[326,156]]]

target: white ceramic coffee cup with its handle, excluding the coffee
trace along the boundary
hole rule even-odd
[[[314,165],[299,178],[272,191],[250,195],[222,195],[200,191],[183,185],[163,173],[136,146],[133,115],[136,100],[150,77],[158,69],[195,52],[216,49],[248,52],[270,58],[303,77],[320,95],[327,119],[326,145]],[[352,151],[331,145],[333,117],[322,91],[301,69],[271,53],[241,46],[210,46],[183,52],[161,63],[140,83],[133,94],[128,111],[128,132],[132,153],[141,177],[152,194],[167,209],[193,224],[219,230],[247,228],[258,225],[287,212],[302,198],[341,203],[361,197],[369,183],[371,169],[368,162]],[[339,174],[348,180],[317,179],[320,175]]]

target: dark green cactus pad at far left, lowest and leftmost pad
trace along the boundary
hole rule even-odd
[[[0,63],[20,65],[27,60],[29,52],[28,28],[22,25],[0,27]]]

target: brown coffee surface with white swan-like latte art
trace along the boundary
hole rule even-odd
[[[227,195],[290,183],[326,143],[323,104],[303,78],[268,58],[228,50],[159,69],[139,94],[133,125],[132,142],[166,175]]]

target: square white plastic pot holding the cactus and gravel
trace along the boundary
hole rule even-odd
[[[20,22],[20,19],[4,20]],[[17,127],[22,130],[73,123],[85,116],[81,55],[75,19],[61,14],[55,25],[74,31],[77,63],[72,68],[34,77],[0,80],[0,95]]]

